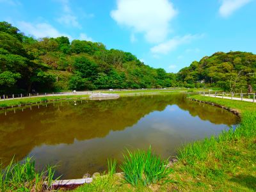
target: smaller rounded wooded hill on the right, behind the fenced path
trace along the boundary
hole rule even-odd
[[[211,86],[237,92],[256,90],[256,55],[250,52],[216,52],[182,68],[177,80],[186,87]]]

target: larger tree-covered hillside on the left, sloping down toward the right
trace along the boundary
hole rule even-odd
[[[35,39],[0,22],[0,92],[49,92],[175,86],[175,74],[130,52],[65,36]]]

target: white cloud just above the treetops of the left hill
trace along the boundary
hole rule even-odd
[[[26,35],[33,35],[36,38],[42,38],[45,36],[67,36],[68,38],[72,39],[69,35],[60,33],[57,29],[47,23],[31,24],[30,22],[20,21],[17,22],[17,26],[20,31],[23,31],[24,33],[26,33]]]

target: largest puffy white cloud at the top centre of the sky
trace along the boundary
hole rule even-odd
[[[120,25],[143,33],[148,42],[159,43],[170,32],[170,20],[177,10],[168,0],[117,0],[117,9],[111,17]]]

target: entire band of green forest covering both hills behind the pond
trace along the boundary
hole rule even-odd
[[[173,74],[100,42],[36,39],[0,22],[0,93],[175,86],[236,92],[250,85],[256,90],[255,72],[256,55],[250,52],[216,52]]]

